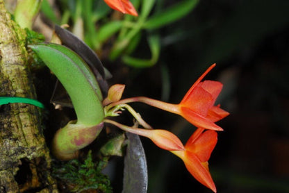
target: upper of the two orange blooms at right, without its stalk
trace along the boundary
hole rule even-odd
[[[178,112],[179,115],[197,127],[222,131],[223,129],[217,126],[215,122],[228,116],[229,112],[222,110],[220,105],[213,105],[223,85],[217,81],[201,82],[213,67],[215,67],[215,64],[211,65],[190,87],[190,90],[178,105]]]

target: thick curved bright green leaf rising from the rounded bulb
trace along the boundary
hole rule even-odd
[[[77,124],[99,124],[104,119],[102,97],[88,65],[74,51],[59,44],[35,44],[29,47],[38,54],[67,90],[76,111]]]

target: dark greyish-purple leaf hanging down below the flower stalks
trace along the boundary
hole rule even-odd
[[[122,193],[147,192],[147,160],[140,137],[126,133],[129,144],[124,157],[124,189]]]

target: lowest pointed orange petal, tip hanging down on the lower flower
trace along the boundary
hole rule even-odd
[[[199,183],[210,188],[213,192],[217,192],[215,183],[213,182],[210,172],[208,171],[208,165],[206,162],[201,162],[194,153],[185,151],[183,162],[190,174],[196,178]]]

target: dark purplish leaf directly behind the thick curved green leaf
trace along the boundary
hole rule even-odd
[[[104,66],[99,60],[97,54],[88,47],[79,37],[76,37],[73,33],[61,28],[60,26],[55,26],[55,32],[63,42],[63,44],[73,51],[75,51],[85,62],[89,65],[94,76],[97,78],[99,87],[101,87],[101,92],[106,95],[108,90],[108,85],[106,83],[106,76],[104,71]]]

